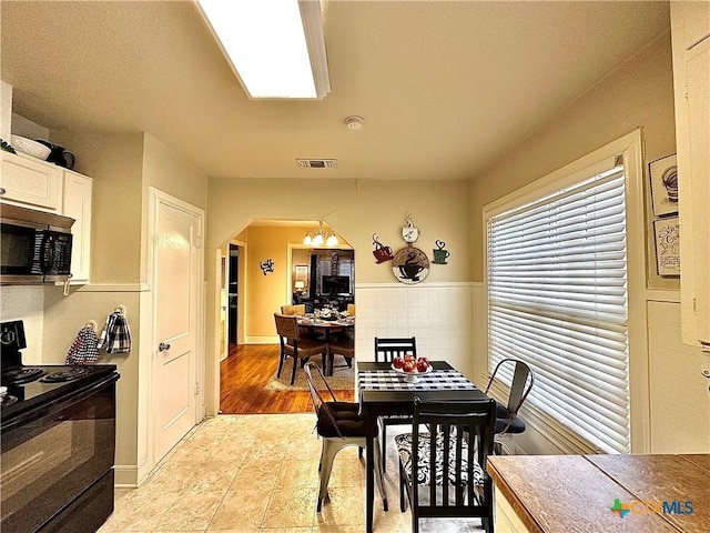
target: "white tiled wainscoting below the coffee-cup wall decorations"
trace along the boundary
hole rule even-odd
[[[356,356],[374,361],[375,336],[416,336],[419,355],[473,378],[471,283],[355,286]]]

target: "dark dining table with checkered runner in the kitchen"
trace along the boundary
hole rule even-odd
[[[366,517],[365,531],[372,533],[375,502],[374,439],[377,419],[383,415],[413,414],[414,398],[422,401],[487,400],[488,396],[446,361],[430,361],[433,371],[408,383],[392,370],[389,363],[358,362],[357,390],[365,419],[366,451]],[[385,511],[387,511],[385,500]]]

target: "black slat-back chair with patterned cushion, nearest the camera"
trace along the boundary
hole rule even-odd
[[[484,530],[493,533],[493,481],[486,459],[493,451],[495,400],[418,400],[412,433],[395,436],[399,507],[404,512],[408,500],[413,533],[418,533],[424,517],[479,517]]]

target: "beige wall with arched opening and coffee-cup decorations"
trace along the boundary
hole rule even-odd
[[[446,242],[452,252],[447,265],[432,265],[426,282],[467,282],[470,280],[470,204],[469,183],[465,181],[355,181],[355,180],[255,180],[211,178],[207,211],[207,258],[253,220],[318,220],[341,234],[355,250],[356,283],[396,283],[389,263],[376,264],[372,255],[373,233],[395,251],[405,245],[402,227],[412,213],[414,224],[420,230],[417,248],[432,255],[436,240]],[[300,235],[300,242],[303,234]],[[265,259],[253,235],[248,235],[247,269]],[[276,268],[284,255],[272,259]],[[205,269],[207,280],[207,412],[216,412],[219,374],[217,313],[215,309],[214,268]],[[270,283],[271,275],[264,276]],[[405,285],[396,290],[406,291]],[[252,293],[253,289],[247,288]],[[256,302],[266,315],[283,303],[286,288],[277,299]],[[254,294],[257,291],[253,292]],[[271,296],[270,296],[271,298]],[[261,309],[260,308],[260,309]],[[251,312],[251,310],[250,310]],[[273,320],[273,316],[272,316]],[[251,331],[251,326],[250,328]],[[273,335],[273,326],[271,326]],[[262,330],[260,330],[262,331]],[[266,330],[263,330],[266,332]],[[210,338],[212,335],[212,338]]]

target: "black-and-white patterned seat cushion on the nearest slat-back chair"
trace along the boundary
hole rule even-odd
[[[429,469],[429,464],[430,464],[429,438],[430,438],[429,433],[419,433],[419,445],[418,445],[419,467],[417,469],[417,472],[418,472],[417,484],[419,485],[432,484],[432,480],[430,480],[432,474]],[[449,440],[450,440],[450,450],[456,450],[456,436],[450,435]],[[412,447],[413,447],[412,433],[404,433],[395,436],[395,443],[397,445],[397,452],[399,453],[399,461],[404,470],[404,474],[407,479],[407,482],[412,483]],[[468,467],[467,451],[468,451],[468,445],[464,443],[463,452],[462,452],[464,455],[462,459],[462,480],[460,480],[462,485],[465,485],[468,482],[468,472],[471,470]],[[449,456],[448,463],[449,463],[448,483],[452,485],[456,485],[457,484],[456,470],[455,470],[456,457]],[[435,464],[437,465],[436,472],[440,474],[443,470],[442,465],[444,464],[444,436],[440,434],[436,443],[436,463]],[[484,472],[480,465],[476,462],[474,462],[473,473],[474,473],[474,484],[477,486],[483,486],[484,480],[485,480]],[[438,474],[437,474],[437,479],[434,481],[436,485],[444,484],[443,477],[439,476]]]

